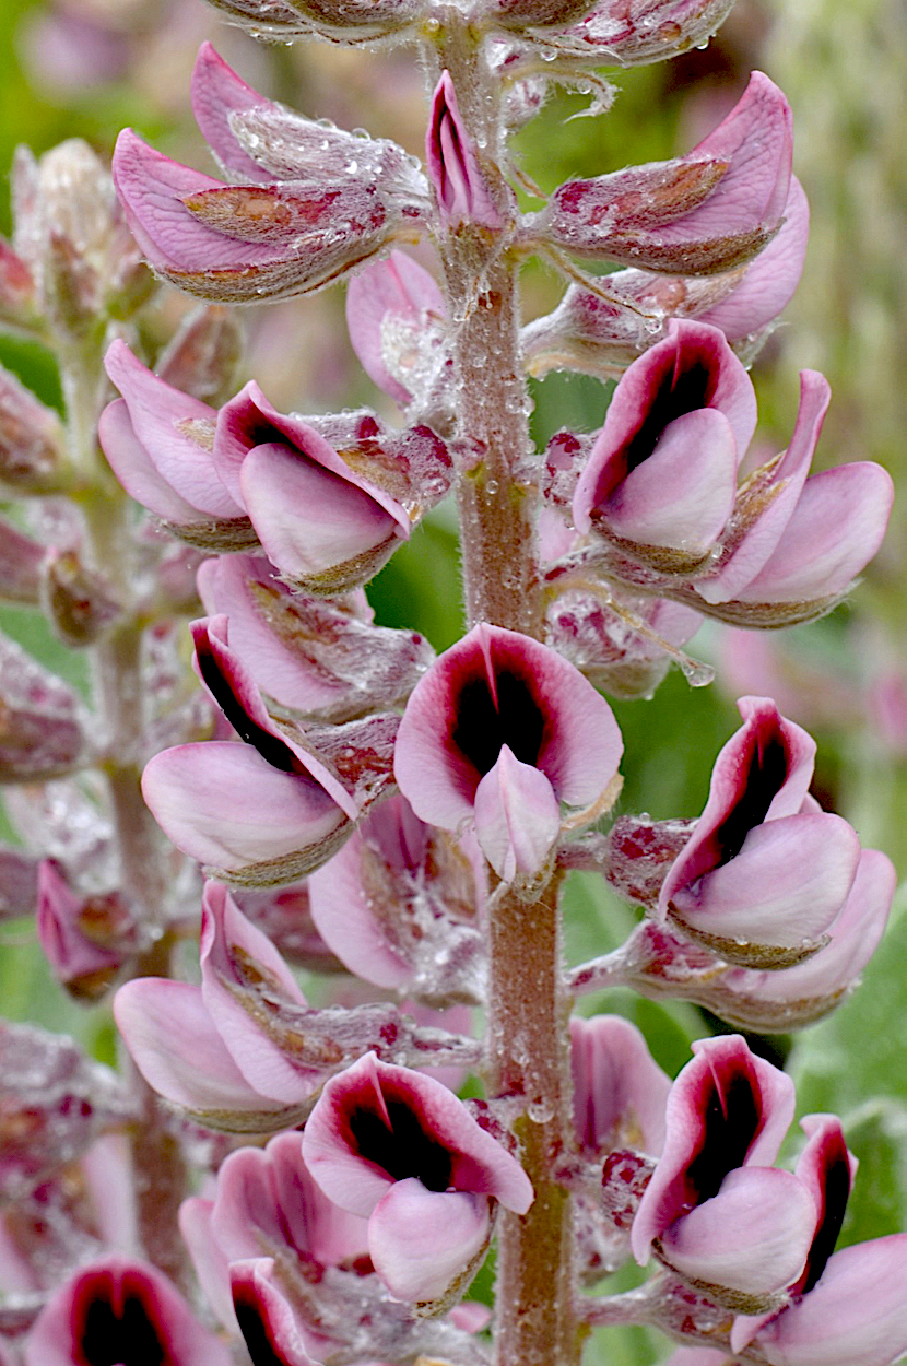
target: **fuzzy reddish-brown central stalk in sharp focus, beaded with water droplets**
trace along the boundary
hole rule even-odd
[[[489,68],[488,49],[459,23],[437,36],[428,59],[429,70],[441,68],[456,92],[460,126],[475,156],[471,169],[499,220],[488,225],[493,219],[482,204],[485,221],[448,217],[438,239],[454,324],[455,404],[466,438],[456,493],[467,619],[470,626],[489,622],[540,639],[534,507],[518,482],[531,441],[519,346],[515,199],[492,156],[503,139],[504,87]],[[501,1212],[499,1366],[570,1366],[581,1354],[571,1203],[557,1175],[574,1147],[559,888],[557,874],[529,897],[501,884],[489,904],[486,1085],[489,1096],[514,1102],[514,1131],[535,1191],[526,1214]]]

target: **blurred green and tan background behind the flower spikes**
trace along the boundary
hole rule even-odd
[[[132,124],[163,150],[209,169],[189,115],[187,81],[198,44],[210,37],[246,79],[310,115],[328,115],[395,137],[418,153],[423,100],[411,53],[367,56],[341,49],[257,46],[228,29],[202,0],[5,0],[0,37],[0,168],[16,143],[37,153],[68,137],[109,156]],[[903,0],[739,0],[705,49],[673,63],[611,72],[613,112],[575,119],[579,96],[555,96],[520,134],[519,158],[544,190],[572,175],[686,150],[739,97],[749,71],[766,70],[795,115],[795,169],[813,208],[800,291],[754,366],[758,438],[772,451],[788,438],[798,370],[824,370],[833,388],[820,464],[874,459],[906,482],[907,459],[907,8]],[[10,231],[5,195],[0,229]],[[552,307],[560,285],[526,272],[526,313]],[[146,321],[152,343],[183,310],[172,295]],[[381,399],[358,372],[343,329],[339,291],[247,314],[249,373],[279,406],[322,411]],[[0,335],[0,361],[45,400],[60,404],[52,358]],[[246,376],[243,376],[245,378]],[[587,377],[555,374],[534,385],[535,436],[559,426],[591,430],[608,389]],[[690,652],[718,678],[691,690],[672,672],[650,701],[615,703],[626,739],[620,809],[693,817],[702,809],[712,762],[738,724],[734,698],[775,691],[783,710],[820,742],[815,792],[851,820],[863,844],[881,847],[907,874],[907,500],[888,542],[852,600],[810,627],[762,638],[759,661],[734,632],[709,626]],[[370,589],[378,619],[422,630],[437,649],[462,631],[456,533],[451,510],[429,518]],[[85,683],[83,661],[57,646],[40,619],[0,608],[0,626],[40,658]],[[766,686],[766,680],[777,688]],[[881,708],[885,687],[903,690],[900,713]],[[783,698],[781,698],[783,693]],[[632,914],[590,878],[568,896],[572,960],[606,951]],[[794,1045],[800,1113],[833,1109],[848,1123],[862,1160],[846,1242],[907,1227],[907,912],[896,903],[889,934],[866,985],[831,1020]],[[583,1003],[617,1008],[646,1030],[656,1056],[676,1071],[688,1040],[714,1022],[688,1007],[635,999]],[[51,981],[30,923],[0,925],[0,1012],[81,1035],[112,1056],[108,1012],[83,1011]],[[785,1046],[785,1045],[783,1045]],[[609,1337],[609,1343],[615,1340]],[[608,1361],[647,1362],[662,1351],[628,1333]],[[616,1352],[616,1355],[615,1355]],[[604,1356],[602,1356],[604,1361]]]

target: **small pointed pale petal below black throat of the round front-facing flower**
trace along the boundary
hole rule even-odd
[[[531,877],[560,833],[560,803],[537,768],[520,764],[507,744],[475,788],[475,836],[505,882]]]

